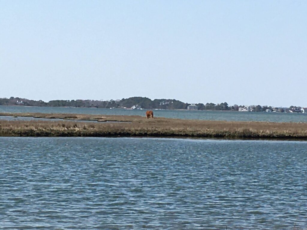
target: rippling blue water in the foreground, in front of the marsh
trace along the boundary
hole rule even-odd
[[[306,149],[1,137],[0,229],[306,229]]]

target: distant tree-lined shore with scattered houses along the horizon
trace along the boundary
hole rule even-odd
[[[300,106],[272,107],[267,105],[228,105],[227,102],[185,103],[175,99],[154,99],[146,97],[122,98],[121,100],[52,100],[44,102],[26,98],[0,98],[0,105],[47,106],[47,107],[81,107],[107,109],[187,109],[187,110],[225,110],[239,112],[266,113],[307,113],[307,108]]]

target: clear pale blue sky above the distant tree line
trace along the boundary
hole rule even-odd
[[[2,1],[0,97],[307,107],[307,1]]]

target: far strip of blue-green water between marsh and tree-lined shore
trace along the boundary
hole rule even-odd
[[[29,107],[3,106],[0,113],[77,113],[104,115],[140,115],[145,117],[146,110],[132,109],[97,109],[71,107]],[[188,111],[188,110],[154,110],[155,117],[179,119],[217,120],[217,121],[271,121],[271,122],[307,122],[307,114],[303,113],[249,113],[237,111]]]

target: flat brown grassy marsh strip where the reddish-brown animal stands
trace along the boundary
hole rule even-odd
[[[49,119],[46,121],[0,120],[0,136],[155,136],[307,140],[307,123],[202,121],[163,117],[147,119],[145,116],[47,113],[0,113],[0,116]],[[52,119],[63,120],[53,121]]]

